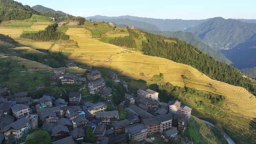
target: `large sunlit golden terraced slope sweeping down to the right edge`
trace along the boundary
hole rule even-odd
[[[143,80],[163,73],[165,81],[173,85],[188,86],[226,96],[223,108],[229,112],[256,117],[256,98],[244,88],[212,80],[189,65],[99,42],[91,39],[90,32],[83,28],[69,28],[66,33],[79,45],[79,48],[62,49],[63,52],[72,53],[70,59],[113,68],[126,76]],[[55,50],[58,51],[58,48]]]

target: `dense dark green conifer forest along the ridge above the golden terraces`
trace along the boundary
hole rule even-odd
[[[147,38],[142,43],[145,55],[167,58],[175,62],[191,65],[211,79],[219,80],[235,86],[241,86],[256,95],[256,86],[251,80],[244,78],[237,68],[224,62],[216,61],[207,54],[201,52],[193,45],[177,38],[145,33]],[[166,42],[173,40],[174,42]]]

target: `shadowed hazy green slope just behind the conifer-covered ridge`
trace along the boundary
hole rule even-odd
[[[177,31],[177,32],[170,32],[170,31],[150,31],[154,34],[159,34],[165,37],[177,37],[185,42],[194,45],[200,51],[207,53],[209,56],[216,58],[217,61],[226,62],[226,64],[231,64],[231,61],[226,58],[221,52],[216,49],[213,49],[211,46],[205,44],[201,39],[193,35],[192,33]]]

